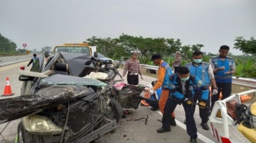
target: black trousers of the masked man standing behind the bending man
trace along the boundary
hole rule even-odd
[[[197,90],[194,90],[194,92],[195,92],[195,94],[194,94],[193,100],[194,100],[194,103],[197,103],[197,100],[199,100],[202,95],[202,91],[200,89],[197,89]],[[210,107],[210,92],[208,95],[208,100],[206,102],[206,106]],[[196,110],[196,105],[193,105],[193,114],[195,113],[195,110]],[[210,113],[210,108],[204,108],[204,109],[199,108],[199,115],[200,115],[200,118],[202,119],[203,123],[208,122],[209,113]]]

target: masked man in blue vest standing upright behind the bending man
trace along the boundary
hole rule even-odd
[[[203,52],[195,51],[193,52],[193,61],[189,62],[185,65],[190,70],[190,75],[194,75],[203,81],[208,87],[210,84],[213,87],[213,95],[218,93],[218,88],[216,87],[216,82],[213,75],[213,68],[212,66],[207,63],[203,62]],[[194,103],[197,103],[197,100],[200,99],[202,91],[198,87],[194,87]],[[206,106],[210,107],[210,92],[208,96],[208,100],[206,100]],[[196,110],[196,105],[193,105],[193,112]],[[200,126],[203,127],[205,130],[209,130],[209,126],[207,125],[208,116],[210,113],[210,108],[199,108],[200,118],[202,122]]]

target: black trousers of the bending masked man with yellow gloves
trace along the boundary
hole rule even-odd
[[[186,126],[187,126],[187,134],[190,135],[190,138],[197,138],[197,126],[194,120],[194,113],[192,105],[188,105],[185,102],[181,102],[178,100],[173,100],[168,98],[165,103],[164,115],[162,117],[162,128],[168,129],[171,126],[171,113],[174,112],[176,106],[181,104],[185,111],[186,116]]]

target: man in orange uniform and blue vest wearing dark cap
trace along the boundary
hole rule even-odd
[[[169,97],[171,84],[169,83],[169,77],[172,75],[171,67],[170,65],[162,60],[162,56],[158,53],[155,53],[152,55],[151,61],[154,62],[155,65],[158,65],[158,80],[156,81],[154,87],[150,90],[149,94],[152,95],[155,93],[155,91],[162,87],[162,94],[159,100],[159,110],[161,110],[162,114],[164,114],[165,110],[165,103],[166,100]],[[176,126],[175,122],[175,115],[174,112],[171,114],[171,126]]]

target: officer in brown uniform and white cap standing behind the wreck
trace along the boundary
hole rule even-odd
[[[127,82],[128,84],[137,85],[139,84],[139,75],[140,78],[143,80],[141,71],[139,70],[139,59],[138,59],[138,52],[131,52],[132,57],[128,59],[125,63],[124,70],[123,70],[123,77],[127,74]]]

